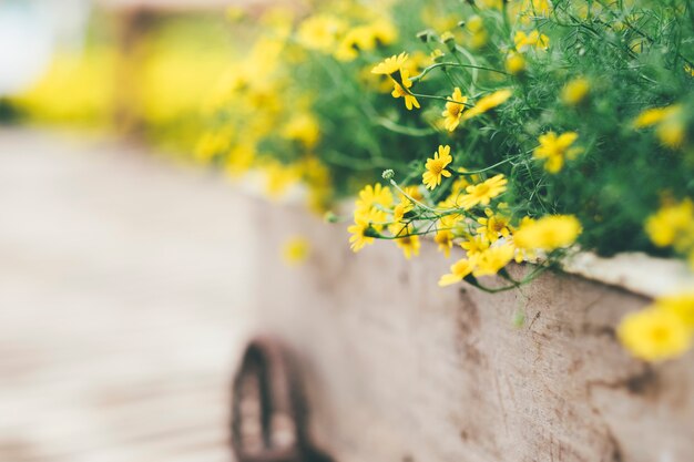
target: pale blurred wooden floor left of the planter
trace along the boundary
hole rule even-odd
[[[0,211],[0,461],[229,461],[253,233],[228,185],[2,130]]]

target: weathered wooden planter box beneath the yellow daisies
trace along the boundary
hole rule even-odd
[[[614,333],[685,273],[649,286],[643,267],[579,261],[611,285],[548,273],[497,295],[441,289],[433,243],[411,261],[387,242],[354,255],[344,225],[302,207],[249,198],[248,216],[252,330],[298,351],[313,433],[339,461],[694,461],[694,355],[646,365]],[[313,248],[292,269],[279,249],[294,234]],[[673,270],[644,264],[646,279]]]

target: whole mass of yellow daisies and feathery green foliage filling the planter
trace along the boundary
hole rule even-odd
[[[694,260],[694,25],[676,3],[269,10],[197,158],[259,171],[272,196],[304,183],[317,209],[358,192],[350,247],[412,258],[428,236],[456,256],[442,286],[512,289],[579,248]]]

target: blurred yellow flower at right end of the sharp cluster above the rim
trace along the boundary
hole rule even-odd
[[[547,251],[569,247],[581,234],[581,223],[573,215],[549,215],[525,220],[513,234],[513,244],[525,250]]]

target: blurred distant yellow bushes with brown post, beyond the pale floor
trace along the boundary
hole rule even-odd
[[[243,28],[225,20],[229,6],[252,20],[267,2],[2,1],[2,119],[190,150],[201,102],[243,42]]]

